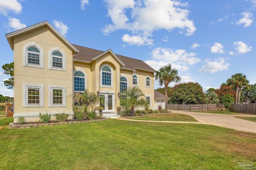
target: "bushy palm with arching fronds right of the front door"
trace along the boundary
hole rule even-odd
[[[120,105],[124,106],[126,109],[131,109],[131,115],[135,115],[135,108],[148,108],[148,103],[145,100],[145,95],[137,86],[129,88],[126,92],[124,91],[122,93],[123,94],[120,98]]]

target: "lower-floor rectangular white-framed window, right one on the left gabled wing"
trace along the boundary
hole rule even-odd
[[[66,107],[65,86],[49,86],[49,107]]]

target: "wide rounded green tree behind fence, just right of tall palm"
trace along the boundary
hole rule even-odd
[[[205,100],[202,86],[197,82],[176,84],[170,93],[173,104],[203,104]]]

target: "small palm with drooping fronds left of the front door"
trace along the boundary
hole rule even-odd
[[[87,108],[91,107],[91,109],[98,102],[99,97],[93,93],[89,92],[87,89],[84,90],[83,93],[75,93],[74,94],[74,102],[81,104],[84,108],[84,113],[87,113]]]

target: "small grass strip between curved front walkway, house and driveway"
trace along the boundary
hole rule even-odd
[[[148,114],[145,117],[133,117],[128,119],[157,120],[157,121],[197,121],[192,116],[184,115],[180,113],[154,114],[154,115]]]

